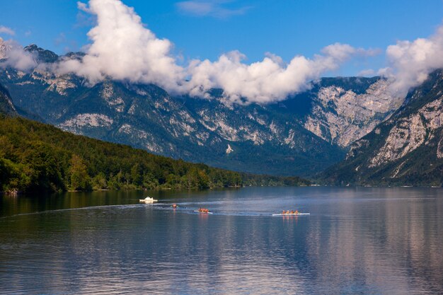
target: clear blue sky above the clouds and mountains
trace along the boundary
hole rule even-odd
[[[265,52],[289,62],[302,54],[312,57],[335,42],[383,52],[397,40],[428,37],[442,24],[442,0],[275,0],[275,1],[142,1],[124,0],[134,7],[146,26],[174,44],[184,60],[215,60],[239,50],[246,62],[263,59]],[[202,5],[205,4],[205,5]],[[193,9],[192,9],[193,8]],[[0,2],[0,26],[15,31],[12,37],[28,45],[62,54],[88,43],[93,26],[76,1],[14,0]],[[384,65],[384,54],[352,60],[334,73],[357,74]]]

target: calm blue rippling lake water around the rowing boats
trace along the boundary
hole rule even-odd
[[[0,197],[0,294],[443,294],[442,189],[146,195]]]

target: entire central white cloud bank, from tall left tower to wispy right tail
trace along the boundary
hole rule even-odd
[[[55,71],[85,76],[91,83],[110,77],[202,97],[211,88],[222,88],[226,98],[234,101],[269,103],[306,90],[310,81],[338,69],[350,57],[377,53],[336,43],[311,59],[296,56],[287,64],[270,53],[260,62],[246,64],[245,56],[234,51],[216,62],[192,60],[183,67],[171,54],[172,43],[156,37],[121,1],[91,0],[88,6],[79,3],[79,8],[96,16],[96,26],[88,32],[91,44],[83,59],[64,60]]]

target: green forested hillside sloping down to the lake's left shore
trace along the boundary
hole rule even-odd
[[[280,179],[280,183],[279,183]],[[299,178],[243,175],[90,139],[0,115],[0,191],[298,185]]]

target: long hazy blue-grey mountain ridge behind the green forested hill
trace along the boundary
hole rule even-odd
[[[57,57],[36,45],[25,50],[40,64],[81,58],[81,53]],[[313,175],[340,161],[349,144],[402,103],[386,95],[387,82],[379,78],[321,79],[310,91],[270,105],[234,104],[220,90],[200,99],[173,97],[154,85],[103,81],[88,86],[45,66],[30,73],[4,69],[0,83],[23,113],[76,134],[186,161],[280,175]]]

